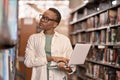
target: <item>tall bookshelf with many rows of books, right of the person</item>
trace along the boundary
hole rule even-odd
[[[73,9],[70,16],[72,45],[92,44],[84,66],[77,65],[74,75],[76,80],[119,80],[120,0],[88,1]]]

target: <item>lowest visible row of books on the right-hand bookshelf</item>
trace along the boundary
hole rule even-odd
[[[97,64],[87,63],[87,75],[91,76],[91,80],[119,80],[120,71],[111,69]],[[89,80],[89,79],[87,79]]]

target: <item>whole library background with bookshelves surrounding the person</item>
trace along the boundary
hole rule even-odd
[[[73,49],[91,44],[84,64],[63,80],[120,80],[120,0],[0,0],[0,80],[31,80],[26,44],[48,8],[61,13],[55,30]]]

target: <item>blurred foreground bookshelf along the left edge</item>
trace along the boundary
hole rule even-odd
[[[0,80],[15,80],[17,12],[17,0],[0,0]]]

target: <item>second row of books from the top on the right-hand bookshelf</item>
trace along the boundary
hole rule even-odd
[[[120,7],[102,12],[84,21],[74,24],[73,31],[107,27],[120,24]]]

